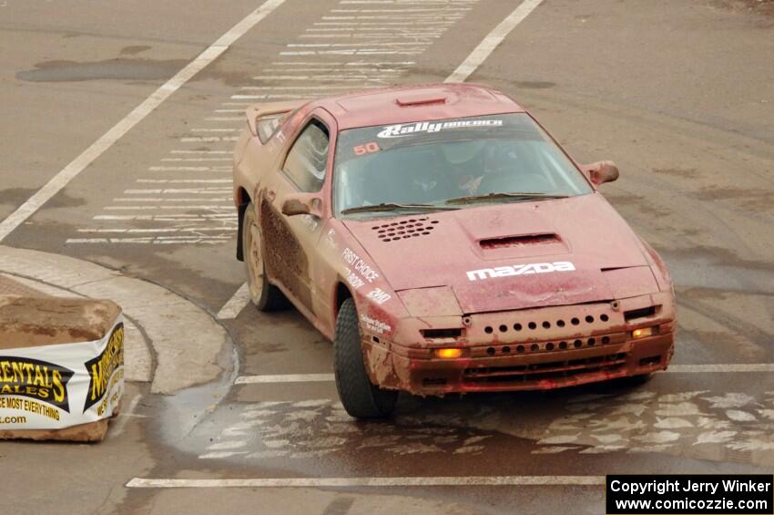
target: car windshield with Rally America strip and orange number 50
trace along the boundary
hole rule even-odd
[[[342,130],[333,181],[337,216],[398,214],[411,209],[406,206],[428,211],[548,200],[592,191],[525,113]],[[363,206],[374,209],[355,209]]]

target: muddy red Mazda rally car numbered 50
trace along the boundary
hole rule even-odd
[[[333,341],[353,417],[399,390],[548,389],[667,368],[656,252],[524,108],[482,86],[392,88],[247,111],[237,256],[261,310]]]

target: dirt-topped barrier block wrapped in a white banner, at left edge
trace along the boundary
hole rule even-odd
[[[117,304],[0,296],[0,438],[101,440],[123,390]]]

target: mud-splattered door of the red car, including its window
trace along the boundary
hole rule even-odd
[[[322,222],[304,214],[282,214],[282,202],[290,193],[315,193],[325,183],[331,131],[319,116],[300,124],[280,168],[265,182],[259,210],[264,244],[264,263],[272,282],[291,297],[301,311],[314,314],[311,257],[320,238]]]

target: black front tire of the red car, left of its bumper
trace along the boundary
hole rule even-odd
[[[341,304],[333,337],[336,389],[344,409],[355,418],[388,417],[398,400],[397,390],[383,390],[371,383],[362,357],[360,324],[355,303]]]

